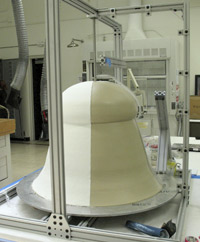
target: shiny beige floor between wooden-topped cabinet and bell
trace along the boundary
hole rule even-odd
[[[48,145],[11,144],[12,182],[44,165]]]

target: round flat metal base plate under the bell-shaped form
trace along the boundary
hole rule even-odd
[[[30,206],[51,212],[52,202],[37,195],[32,188],[32,183],[39,173],[40,171],[24,177],[24,179],[17,185],[17,194],[25,203],[29,204]],[[67,214],[87,217],[111,217],[141,213],[160,207],[177,195],[178,188],[176,179],[173,176],[166,174],[159,174],[157,176],[163,188],[154,197],[137,203],[109,207],[81,207],[66,205]]]

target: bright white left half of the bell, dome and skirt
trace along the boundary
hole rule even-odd
[[[63,93],[64,154],[67,204],[90,206],[92,82],[72,86]],[[51,199],[50,157],[33,182],[33,189]]]

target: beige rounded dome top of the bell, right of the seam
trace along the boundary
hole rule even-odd
[[[110,82],[94,82],[92,86],[92,123],[131,120],[137,113],[133,96],[121,86]]]

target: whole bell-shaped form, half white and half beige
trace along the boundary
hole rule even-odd
[[[84,82],[63,93],[66,201],[105,207],[153,197],[162,188],[149,166],[134,97],[121,85]],[[51,200],[50,159],[33,181]]]

